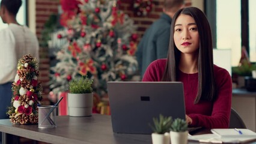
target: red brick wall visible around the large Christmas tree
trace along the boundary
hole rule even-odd
[[[153,0],[153,9],[146,17],[136,16],[133,13],[133,0],[121,0],[120,9],[128,14],[138,26],[139,39],[144,34],[148,26],[151,25],[162,13],[162,5],[164,0]],[[191,0],[186,0],[186,5],[191,5]],[[41,31],[46,20],[50,14],[58,13],[59,0],[36,0],[36,34],[38,39],[41,38]],[[49,94],[49,56],[47,47],[40,47],[40,77],[39,80],[43,83],[44,100],[47,101],[47,94]]]

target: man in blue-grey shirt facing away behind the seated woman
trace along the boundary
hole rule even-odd
[[[171,20],[176,11],[183,8],[183,5],[184,0],[165,0],[162,16],[143,35],[136,52],[141,78],[151,62],[167,57]]]

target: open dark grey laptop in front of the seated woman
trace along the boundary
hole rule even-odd
[[[181,82],[108,82],[114,133],[151,134],[159,115],[185,119]]]

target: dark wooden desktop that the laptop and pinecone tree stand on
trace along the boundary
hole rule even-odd
[[[0,131],[46,143],[152,143],[150,134],[113,133],[111,116],[99,114],[91,117],[57,116],[57,128],[52,129],[37,128],[37,125],[16,125],[11,124],[9,119],[0,119]],[[195,143],[198,142],[189,142]]]

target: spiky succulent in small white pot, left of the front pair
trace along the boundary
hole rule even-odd
[[[171,116],[165,117],[163,115],[159,115],[159,119],[153,118],[154,125],[150,125],[153,132],[151,134],[153,144],[169,144],[169,128],[171,128],[172,118]]]

